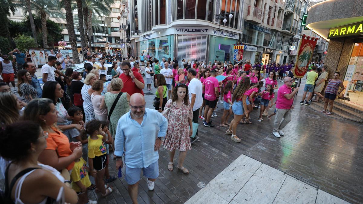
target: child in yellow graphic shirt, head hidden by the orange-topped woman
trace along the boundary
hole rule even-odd
[[[87,162],[82,157],[74,162],[70,177],[72,179],[72,189],[78,195],[79,204],[97,204],[95,200],[88,200],[87,188],[91,186],[88,170]]]

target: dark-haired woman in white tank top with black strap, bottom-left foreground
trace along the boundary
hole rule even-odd
[[[32,121],[17,122],[0,129],[0,155],[11,161],[6,170],[5,185],[14,203],[51,203],[57,199],[61,188],[66,203],[77,203],[76,192],[64,183],[60,172],[38,163],[40,154],[47,147],[47,139],[48,134]]]

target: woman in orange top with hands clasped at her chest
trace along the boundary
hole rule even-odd
[[[38,123],[48,132],[47,147],[39,155],[38,161],[57,170],[72,170],[74,160],[82,156],[81,142],[71,142],[54,123],[57,111],[53,101],[48,98],[33,99],[24,110],[24,119]]]

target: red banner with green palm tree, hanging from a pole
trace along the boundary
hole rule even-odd
[[[315,45],[317,44],[319,38],[310,37],[310,36],[302,36],[300,41],[297,60],[295,63],[295,67],[292,70],[294,76],[296,78],[302,78],[307,71],[309,66],[311,57],[313,56],[313,51]]]

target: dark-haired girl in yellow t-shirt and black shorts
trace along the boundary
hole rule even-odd
[[[91,120],[87,122],[85,130],[81,132],[82,139],[88,137],[88,165],[90,174],[96,181],[96,192],[100,191],[102,196],[110,195],[113,191],[112,187],[106,186],[103,178],[106,170],[106,146],[105,142],[108,137],[102,131],[101,122]]]

